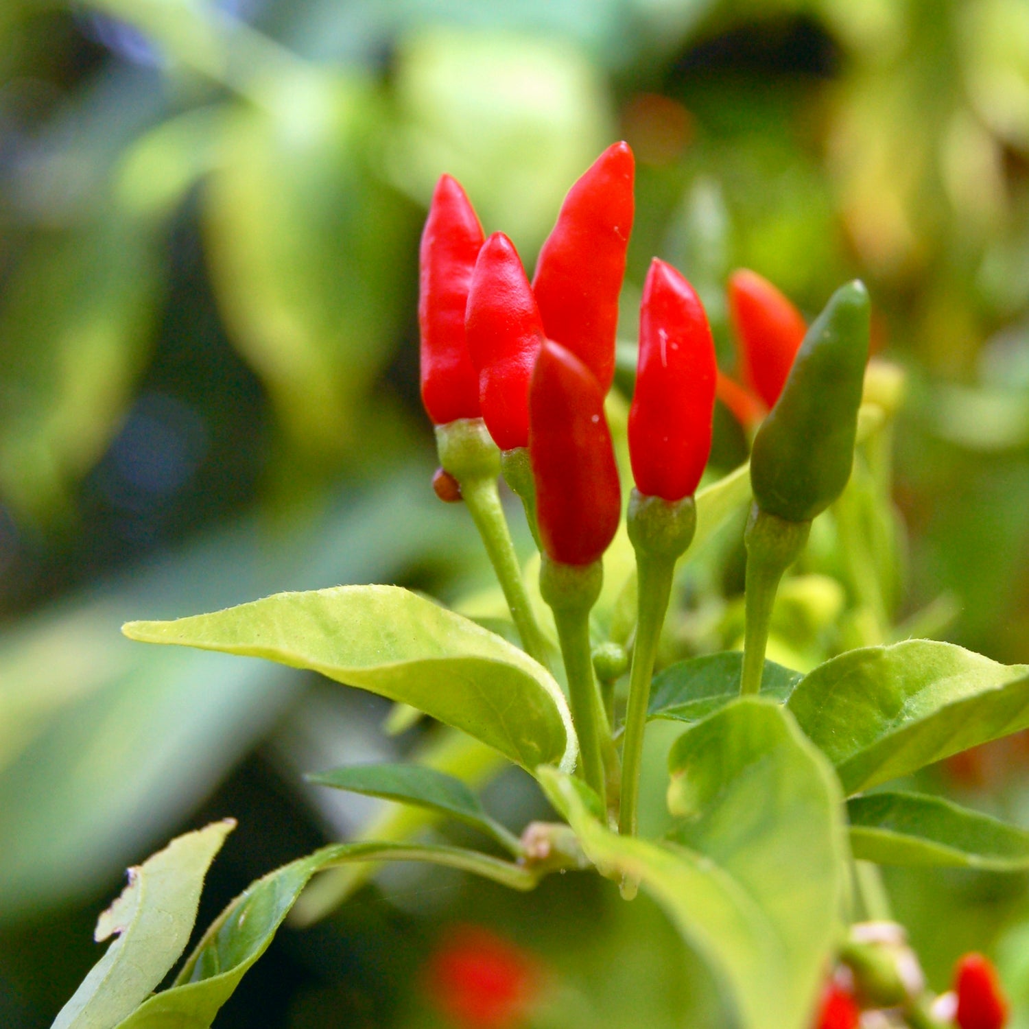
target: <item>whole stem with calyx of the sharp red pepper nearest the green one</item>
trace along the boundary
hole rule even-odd
[[[694,498],[685,497],[673,502],[662,497],[644,496],[633,490],[629,499],[628,528],[629,539],[636,551],[639,589],[636,642],[633,645],[626,733],[622,746],[618,831],[623,836],[635,836],[650,678],[672,595],[675,562],[685,554],[697,528]]]

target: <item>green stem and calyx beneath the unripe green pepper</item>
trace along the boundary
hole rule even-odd
[[[750,508],[743,536],[747,546],[747,626],[743,642],[743,673],[740,676],[740,695],[743,697],[756,694],[761,688],[765,650],[779,580],[800,557],[810,532],[810,522],[788,522],[762,511],[757,504]]]

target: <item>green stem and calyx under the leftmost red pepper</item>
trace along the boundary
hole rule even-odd
[[[530,657],[549,668],[546,640],[533,613],[497,492],[500,452],[478,418],[437,425],[436,447],[439,463],[461,485],[461,497],[500,581],[522,645]]]

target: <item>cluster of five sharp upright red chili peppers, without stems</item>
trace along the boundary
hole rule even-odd
[[[600,155],[569,190],[531,284],[506,236],[484,240],[450,176],[439,180],[422,238],[426,411],[437,425],[481,417],[502,452],[528,450],[540,541],[563,564],[598,560],[620,520],[604,397],[614,378],[633,180],[626,143]],[[696,490],[711,449],[716,372],[700,298],[655,259],[629,423],[642,494],[674,501]]]

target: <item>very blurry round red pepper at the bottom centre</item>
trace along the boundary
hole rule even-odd
[[[461,1029],[505,1029],[522,1021],[542,980],[532,957],[472,925],[452,930],[427,971],[431,999]]]

